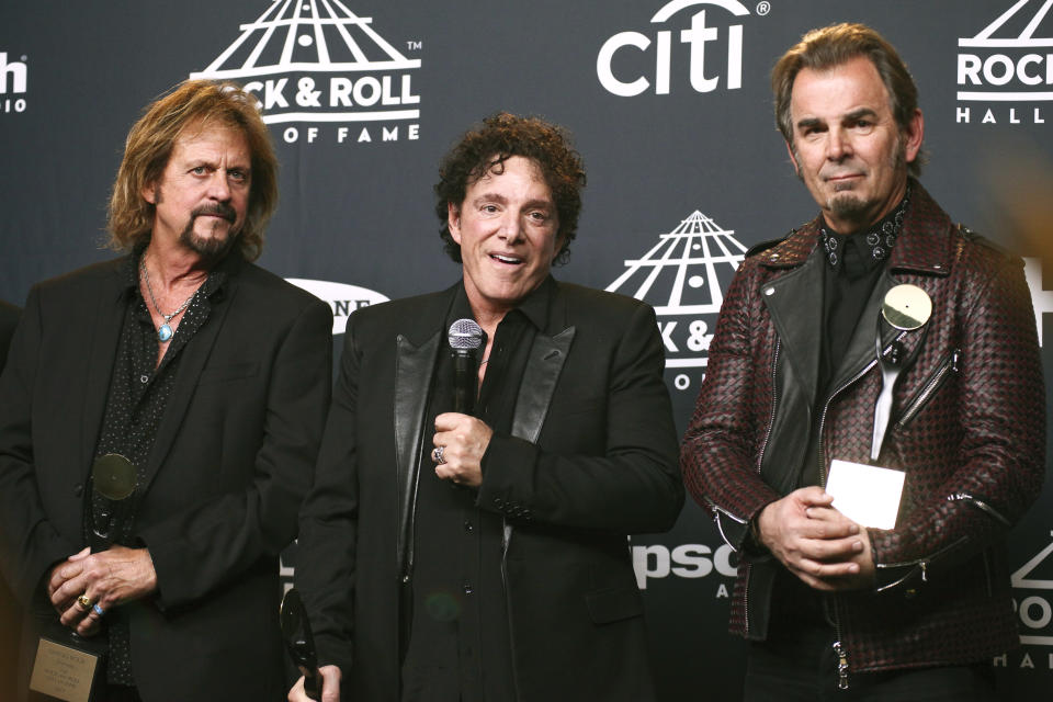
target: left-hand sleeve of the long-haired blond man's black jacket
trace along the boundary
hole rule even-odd
[[[43,339],[41,292],[30,292],[0,376],[0,565],[22,602],[45,571],[79,550],[48,521],[33,456],[33,388]]]

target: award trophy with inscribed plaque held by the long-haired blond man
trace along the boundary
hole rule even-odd
[[[135,466],[115,453],[99,456],[91,466],[91,483],[90,541],[92,551],[102,551],[131,519]],[[105,677],[106,649],[104,638],[79,636],[52,615],[37,645],[30,689],[66,702],[90,702],[97,680]]]

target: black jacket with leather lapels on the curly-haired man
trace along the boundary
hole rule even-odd
[[[505,517],[519,702],[653,699],[626,534],[669,529],[683,488],[654,310],[555,283],[511,435],[484,456],[480,509]],[[427,392],[457,286],[348,321],[297,587],[350,700],[396,702],[399,534],[412,516]],[[494,701],[501,702],[501,701]]]

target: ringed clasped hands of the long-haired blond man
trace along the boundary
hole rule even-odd
[[[149,551],[125,546],[111,546],[100,553],[84,548],[52,568],[47,580],[47,596],[60,621],[81,636],[99,631],[102,615],[94,607],[106,612],[156,589],[157,574]],[[92,605],[79,601],[81,596]]]

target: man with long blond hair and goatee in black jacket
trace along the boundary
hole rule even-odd
[[[123,256],[34,286],[15,332],[0,566],[45,635],[105,650],[97,701],[281,693],[278,556],[325,420],[331,315],[251,263],[276,201],[253,99],[180,84],[128,134]]]

